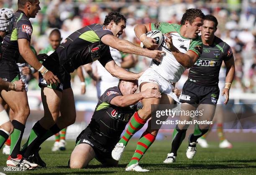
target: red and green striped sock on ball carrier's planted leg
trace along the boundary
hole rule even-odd
[[[131,159],[128,166],[131,166],[131,165],[139,162],[141,160],[142,156],[146,153],[146,151],[150,147],[150,145],[152,145],[152,143],[155,141],[155,139],[156,139],[156,136],[154,136],[148,132],[144,132],[141,135],[140,140],[138,140],[135,153],[133,154],[133,158]]]

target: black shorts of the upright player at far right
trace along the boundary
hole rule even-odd
[[[187,80],[182,88],[180,102],[189,104],[217,104],[220,89],[218,86],[207,87]]]

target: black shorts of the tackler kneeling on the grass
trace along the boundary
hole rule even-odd
[[[83,134],[82,134],[83,133]],[[84,130],[82,133],[77,137],[76,145],[85,143],[90,145],[94,152],[95,152],[95,159],[98,160],[100,163],[104,164],[106,163],[106,160],[113,159],[111,156],[111,152],[114,149],[115,146],[110,146],[108,148],[102,147],[99,143],[97,143],[90,134],[84,133]]]

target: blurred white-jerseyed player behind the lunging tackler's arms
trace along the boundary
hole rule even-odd
[[[133,55],[125,55],[123,59],[123,55],[118,50],[110,47],[110,53],[113,57],[115,63],[123,68],[131,68],[135,64],[135,59]],[[127,58],[128,59],[125,59]],[[125,65],[125,66],[124,66]],[[101,64],[99,61],[95,61],[92,63],[92,70],[95,77],[98,77],[96,82],[97,88],[97,97],[100,96],[110,87],[114,87],[118,85],[119,79],[117,77],[113,77]]]

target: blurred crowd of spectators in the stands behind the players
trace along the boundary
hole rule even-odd
[[[0,7],[17,10],[18,0],[0,0]],[[72,32],[92,23],[103,23],[105,15],[118,11],[127,24],[122,38],[136,45],[133,28],[140,23],[179,23],[187,8],[200,8],[219,22],[215,33],[233,48],[236,77],[233,91],[256,92],[256,0],[40,0],[41,10],[31,19],[31,44],[39,52],[48,43],[53,28],[61,30],[65,39]],[[145,70],[149,59],[138,56],[134,72]],[[87,83],[90,83],[87,77]]]

